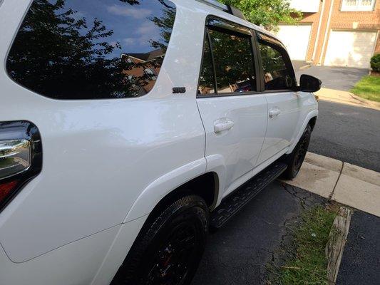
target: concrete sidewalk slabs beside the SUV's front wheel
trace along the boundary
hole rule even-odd
[[[380,217],[379,172],[308,152],[299,175],[284,182]]]

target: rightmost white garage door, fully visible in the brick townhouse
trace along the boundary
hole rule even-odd
[[[376,32],[331,31],[324,65],[369,68]]]

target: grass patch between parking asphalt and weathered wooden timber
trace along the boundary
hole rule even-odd
[[[307,209],[294,229],[294,248],[286,249],[287,258],[274,269],[269,284],[328,284],[327,258],[324,252],[337,209],[315,206]]]

